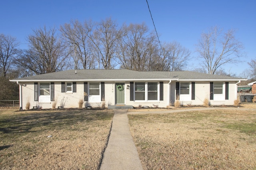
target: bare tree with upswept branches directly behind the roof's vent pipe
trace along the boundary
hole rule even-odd
[[[72,58],[74,59],[74,68],[83,69],[94,68],[94,56],[90,46],[88,35],[92,31],[91,21],[85,21],[84,25],[78,20],[70,21],[60,26],[62,37],[68,43]]]

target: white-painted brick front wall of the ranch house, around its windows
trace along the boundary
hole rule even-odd
[[[169,105],[169,102],[175,102],[175,95],[176,95],[176,82],[164,82],[164,100],[151,102],[151,101],[144,101],[144,102],[136,102],[130,101],[130,89],[126,89],[127,85],[130,86],[130,82],[125,82],[124,85],[124,93],[125,93],[125,104],[132,105],[134,107],[138,107],[139,105],[142,106],[150,106],[154,107],[154,105],[158,105],[158,107],[166,107]],[[236,91],[236,82],[229,82],[229,100],[210,100],[211,105],[233,105],[234,100],[237,99],[237,91]],[[39,103],[34,101],[34,82],[26,82],[22,83],[25,86],[22,86],[22,108],[26,108],[26,103],[30,102],[30,109],[33,106],[40,106],[42,109],[49,109],[52,108],[53,102],[48,103]],[[38,86],[40,83],[38,83]],[[116,94],[116,86],[115,82],[105,82],[105,106],[108,107],[109,105],[115,104],[115,94]],[[190,101],[183,101],[182,104],[192,104],[192,105],[203,105],[204,99],[210,98],[210,83],[209,82],[196,82],[195,83],[195,100]],[[225,92],[225,85],[223,88],[223,92]],[[170,98],[169,98],[170,94]],[[71,107],[78,107],[79,100],[84,100],[84,82],[76,82],[76,92],[75,93],[62,93],[61,92],[61,82],[54,82],[54,96],[56,107],[62,106],[64,104],[64,108],[71,108]],[[83,107],[85,107],[86,103],[84,102]],[[101,107],[102,102],[96,103],[87,103],[87,106],[92,107]]]

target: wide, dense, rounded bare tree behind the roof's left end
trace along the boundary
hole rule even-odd
[[[18,59],[23,67],[33,74],[61,71],[68,66],[64,43],[58,39],[56,29],[40,28],[28,36],[29,50],[24,51]],[[23,61],[23,62],[22,62]]]

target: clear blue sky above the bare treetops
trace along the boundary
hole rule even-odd
[[[236,38],[245,47],[243,62],[226,65],[227,71],[240,74],[248,61],[256,59],[256,0],[148,0],[148,4],[160,41],[179,42],[190,49],[193,62],[202,31],[216,25],[224,31],[236,29]],[[0,33],[16,37],[25,49],[32,29],[58,28],[72,19],[108,17],[120,25],[145,22],[154,30],[146,0],[5,0],[1,2]]]

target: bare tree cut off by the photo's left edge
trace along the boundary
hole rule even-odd
[[[3,76],[6,77],[6,72],[10,68],[13,57],[16,55],[19,43],[16,38],[0,34],[0,68]]]

